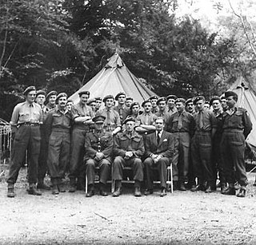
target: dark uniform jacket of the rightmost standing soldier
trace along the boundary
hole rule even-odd
[[[246,138],[252,130],[252,123],[246,109],[234,107],[234,113],[231,115],[228,111],[224,112],[223,129],[240,129]]]

